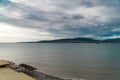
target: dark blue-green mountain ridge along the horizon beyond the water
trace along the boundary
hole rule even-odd
[[[120,38],[106,39],[106,40],[96,40],[92,38],[67,38],[67,39],[37,41],[35,43],[120,43]]]

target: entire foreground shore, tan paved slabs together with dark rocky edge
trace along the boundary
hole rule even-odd
[[[30,80],[66,80],[62,78],[58,78],[55,76],[51,76],[45,73],[38,71],[36,68],[27,65],[20,64],[16,65],[15,63],[7,60],[0,60],[0,80],[7,77],[10,77],[10,80],[13,78],[17,78],[18,76],[21,79],[30,79]],[[4,75],[3,75],[4,74]],[[11,75],[12,74],[12,75]],[[5,78],[5,80],[8,78]],[[71,79],[67,79],[71,80]]]

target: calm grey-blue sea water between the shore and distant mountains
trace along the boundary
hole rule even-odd
[[[0,59],[62,78],[120,80],[120,44],[0,44]]]

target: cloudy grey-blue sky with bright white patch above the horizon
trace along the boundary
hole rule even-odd
[[[0,0],[0,42],[120,38],[120,0]]]

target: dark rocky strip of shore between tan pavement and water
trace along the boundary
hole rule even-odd
[[[24,65],[26,65],[27,67],[30,67],[30,68],[34,68],[35,70],[33,70],[32,73],[31,73],[31,71],[26,70],[26,69],[23,70],[24,67],[22,67],[20,65],[16,65],[15,63],[13,63],[11,61],[2,60],[1,62],[3,62],[3,63],[4,62],[7,62],[7,63],[9,62],[8,63],[9,66],[7,64],[8,68],[10,68],[10,69],[12,69],[12,70],[14,70],[18,73],[19,72],[25,73],[26,75],[31,76],[31,77],[35,78],[36,80],[72,80],[72,79],[62,79],[62,78],[58,78],[58,77],[55,77],[55,76],[45,74],[43,72],[37,71],[36,68],[34,68],[32,66],[29,66],[29,65],[26,65],[26,64],[24,64]]]

